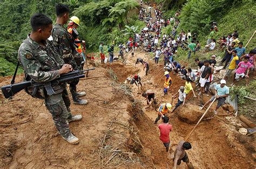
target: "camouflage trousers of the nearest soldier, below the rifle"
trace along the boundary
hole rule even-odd
[[[45,97],[45,106],[52,114],[52,120],[58,132],[64,138],[70,134],[68,118],[72,117],[70,112],[70,99],[68,91]]]

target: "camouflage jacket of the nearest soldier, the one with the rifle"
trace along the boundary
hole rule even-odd
[[[30,80],[29,76],[35,82],[46,83],[59,78],[58,70],[64,62],[53,48],[53,44],[46,40],[45,46],[42,46],[29,36],[22,42],[18,50],[19,61],[25,70],[26,80]],[[65,89],[65,84],[52,85],[52,89],[55,93],[60,93]]]

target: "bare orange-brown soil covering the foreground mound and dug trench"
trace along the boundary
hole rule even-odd
[[[143,90],[154,90],[158,103],[171,103],[172,95],[181,85],[185,85],[185,80],[170,73],[173,84],[169,94],[164,97],[163,63],[155,65],[149,60],[150,71],[145,76],[142,64],[134,67],[137,57],[149,60],[143,52],[133,58],[129,55],[126,65],[117,61],[98,66],[89,72],[90,79],[80,80],[78,89],[86,91],[84,98],[89,100],[89,104],[71,105],[73,114],[83,115],[82,120],[70,123],[71,131],[80,140],[78,145],[70,145],[59,136],[43,100],[32,98],[24,91],[12,99],[4,99],[0,93],[0,167],[171,168],[173,150],[192,130],[194,124],[191,121],[197,121],[204,112],[198,110],[198,105],[210,97],[193,98],[191,92],[184,107],[167,114],[173,131],[170,134],[172,151],[166,153],[159,140],[158,126],[153,124],[156,111],[153,107],[144,108],[146,100],[137,94],[136,85],[124,85],[123,82],[138,73],[142,77]],[[110,75],[110,69],[116,80]],[[11,77],[1,77],[0,85],[9,84],[10,80]],[[22,80],[23,76],[18,76],[16,82]],[[172,104],[176,103],[177,98]],[[253,134],[241,136],[237,127],[224,116],[211,118],[212,110],[205,117],[208,119],[198,125],[188,140],[192,149],[187,154],[194,167],[255,168]],[[179,114],[186,115],[184,112],[188,112],[187,119],[191,121],[180,121]],[[226,110],[221,109],[220,114],[226,114]],[[185,163],[178,168],[186,168]]]

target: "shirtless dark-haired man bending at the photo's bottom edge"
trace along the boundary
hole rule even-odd
[[[177,165],[180,165],[181,160],[187,164],[188,168],[194,168],[185,152],[185,150],[190,150],[190,148],[192,148],[190,143],[185,142],[184,140],[179,141],[176,150],[174,151],[174,169],[176,169]]]

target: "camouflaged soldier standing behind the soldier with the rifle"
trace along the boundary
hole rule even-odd
[[[53,42],[62,56],[66,64],[72,65],[73,69],[81,70],[83,69],[83,56],[76,51],[75,39],[72,39],[70,33],[64,28],[64,24],[69,21],[69,6],[64,4],[56,5],[56,15],[57,21],[53,26],[52,37]],[[86,105],[88,102],[84,99],[79,99],[78,97],[85,96],[85,92],[77,93],[77,84],[79,79],[74,80],[70,83],[69,89],[72,94],[73,103]]]

